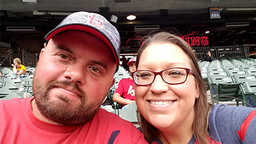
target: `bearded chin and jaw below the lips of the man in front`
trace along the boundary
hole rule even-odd
[[[42,97],[41,97],[42,98]],[[60,125],[74,126],[88,122],[99,111],[101,102],[88,103],[82,99],[79,104],[68,97],[56,96],[55,100],[37,99],[36,105],[45,118]]]

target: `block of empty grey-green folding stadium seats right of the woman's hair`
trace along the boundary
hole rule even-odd
[[[256,68],[253,59],[216,60],[199,62],[207,90],[211,91],[212,102],[236,100],[243,106],[255,107]]]

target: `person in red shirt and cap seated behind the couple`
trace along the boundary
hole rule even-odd
[[[130,72],[136,71],[136,57],[133,57],[129,60],[127,65],[129,66]],[[121,97],[123,96],[123,97]],[[121,79],[118,83],[118,88],[113,95],[113,101],[118,102],[119,104],[131,104],[135,102],[134,94],[134,81],[132,77],[127,79]]]

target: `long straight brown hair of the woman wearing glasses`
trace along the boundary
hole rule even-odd
[[[193,49],[179,36],[172,35],[171,33],[160,32],[154,35],[146,36],[145,38],[143,38],[143,44],[141,45],[140,50],[137,54],[136,68],[138,68],[138,65],[140,63],[141,54],[145,49],[147,49],[148,45],[152,44],[175,44],[188,55],[191,69],[195,73],[195,81],[196,83],[198,83],[200,90],[200,95],[198,99],[195,100],[195,119],[192,125],[192,129],[195,139],[198,143],[209,143],[209,141],[207,140],[207,136],[209,136],[207,132],[207,127],[211,105],[209,106],[207,102],[204,79],[201,76],[200,68],[198,66],[198,62],[196,60]],[[147,120],[145,120],[139,110],[137,111],[137,114],[141,132],[143,132],[145,139],[148,141],[148,143],[152,143],[155,136],[159,138],[160,132],[157,130],[156,127],[154,127],[154,125],[150,124],[149,122],[147,122]]]

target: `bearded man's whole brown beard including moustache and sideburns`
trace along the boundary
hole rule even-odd
[[[79,92],[81,102],[75,105],[72,99],[64,95],[56,95],[57,100],[50,100],[49,91],[58,86],[70,86]],[[71,81],[52,81],[47,86],[40,85],[40,81],[34,74],[33,92],[38,110],[49,120],[61,125],[81,125],[85,124],[99,111],[104,96],[98,102],[88,103],[86,93],[79,86]]]

